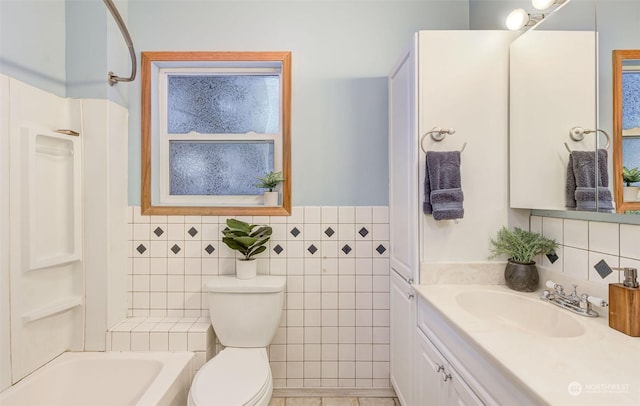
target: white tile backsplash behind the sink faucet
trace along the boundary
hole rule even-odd
[[[543,265],[578,280],[616,283],[614,272],[602,279],[593,268],[600,260],[611,267],[640,266],[640,225],[531,216],[532,231],[542,232],[560,244],[558,261],[543,258]]]

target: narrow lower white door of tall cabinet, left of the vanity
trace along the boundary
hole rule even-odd
[[[391,272],[390,341],[391,383],[403,406],[413,406],[413,337],[416,304],[413,289],[399,274]]]

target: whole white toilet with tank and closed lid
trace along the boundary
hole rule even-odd
[[[225,349],[196,373],[189,406],[266,406],[273,392],[267,346],[284,305],[284,276],[207,282],[211,325]]]

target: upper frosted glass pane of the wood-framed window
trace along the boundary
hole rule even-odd
[[[171,134],[274,134],[280,130],[280,79],[256,75],[168,76]]]

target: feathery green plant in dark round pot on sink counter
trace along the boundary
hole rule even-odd
[[[553,254],[558,243],[541,234],[521,228],[509,230],[502,227],[496,238],[491,238],[491,256],[507,256],[504,279],[510,289],[533,292],[538,288],[540,277],[533,258],[536,255]]]

